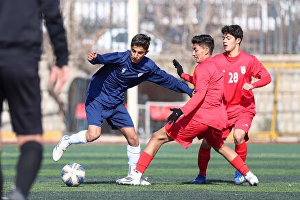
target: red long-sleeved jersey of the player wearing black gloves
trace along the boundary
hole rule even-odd
[[[195,67],[192,76],[183,73],[182,79],[195,86],[195,95],[180,108],[184,116],[219,130],[225,128],[227,114],[222,102],[224,82],[220,66],[212,57],[206,58]]]

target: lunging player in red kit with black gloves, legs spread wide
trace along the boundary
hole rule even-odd
[[[118,184],[140,185],[142,174],[160,147],[175,140],[188,148],[195,137],[205,138],[207,142],[223,155],[240,173],[245,175],[251,186],[258,185],[258,178],[249,171],[245,162],[235,151],[224,145],[221,129],[227,123],[227,114],[222,101],[223,72],[212,59],[214,39],[208,35],[192,38],[192,56],[199,63],[193,76],[182,73],[182,77],[194,84],[195,94],[182,108],[173,108],[168,123],[155,132],[142,152],[132,175]],[[173,60],[175,66],[179,63]],[[183,116],[182,116],[183,115]]]

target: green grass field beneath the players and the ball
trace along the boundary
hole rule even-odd
[[[234,168],[216,152],[208,166],[208,184],[190,184],[198,173],[199,145],[187,150],[175,143],[163,146],[145,172],[151,186],[115,184],[127,174],[125,145],[73,145],[59,162],[52,160],[53,146],[46,146],[29,199],[300,199],[300,145],[248,147],[247,164],[260,179],[258,187],[234,185]],[[16,146],[3,148],[4,195],[12,187],[17,157]],[[60,177],[68,162],[82,164],[86,170],[84,184],[77,188],[64,185]]]

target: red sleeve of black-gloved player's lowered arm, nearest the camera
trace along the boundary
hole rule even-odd
[[[195,110],[201,103],[203,103],[203,100],[205,98],[206,92],[208,91],[208,86],[210,83],[210,73],[208,72],[207,68],[198,67],[195,69],[196,73],[194,75],[196,76],[196,85],[195,85],[195,94],[192,96],[192,98],[184,105],[182,108],[182,112],[184,112],[184,115],[190,114],[192,110]]]

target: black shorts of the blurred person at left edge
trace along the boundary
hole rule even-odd
[[[38,62],[34,65],[0,64],[0,124],[4,99],[8,101],[16,134],[42,134]]]

